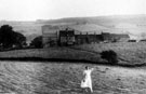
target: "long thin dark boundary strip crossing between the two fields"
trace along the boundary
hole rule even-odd
[[[77,64],[95,64],[95,65],[106,65],[106,66],[120,66],[120,67],[128,67],[128,68],[135,68],[135,67],[144,67],[146,66],[146,63],[144,64],[109,64],[109,63],[103,63],[103,62],[93,62],[93,61],[87,61],[87,59],[69,59],[69,58],[43,58],[43,57],[0,57],[0,61],[6,61],[6,62],[53,62],[53,63],[77,63]]]

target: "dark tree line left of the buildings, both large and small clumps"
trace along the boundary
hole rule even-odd
[[[26,45],[26,37],[23,33],[14,31],[13,27],[10,25],[0,27],[0,50],[23,49]],[[30,46],[42,48],[41,38],[35,38],[31,41]]]

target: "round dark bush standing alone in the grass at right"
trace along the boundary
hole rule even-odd
[[[109,64],[118,64],[118,55],[115,51],[103,51],[101,53],[103,59],[106,59]]]

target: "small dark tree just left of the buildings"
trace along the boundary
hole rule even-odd
[[[42,36],[36,37],[31,41],[30,45],[38,49],[42,48]]]

